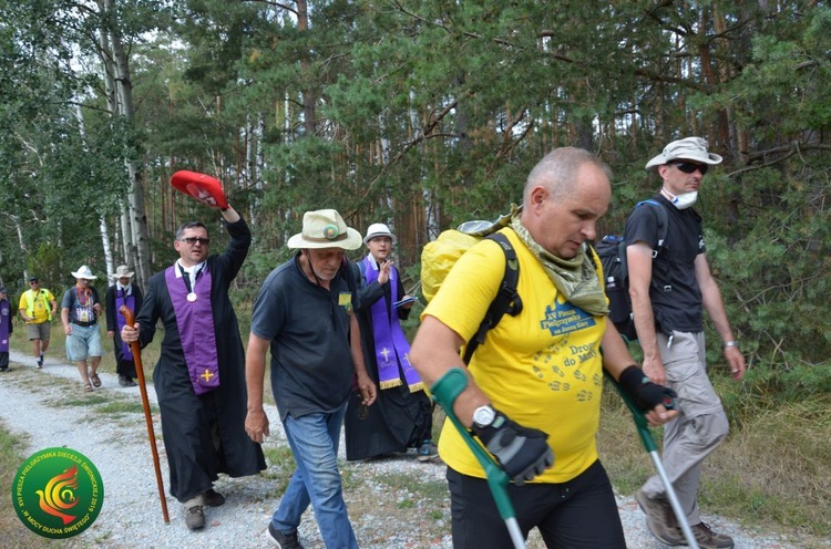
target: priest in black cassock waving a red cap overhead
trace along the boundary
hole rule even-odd
[[[229,206],[222,208],[222,216],[230,236],[225,251],[208,256],[211,239],[203,224],[179,227],[173,242],[179,259],[150,279],[135,327],[122,329],[124,341],[137,335],[144,346],[153,340],[157,321],[164,324],[153,382],[170,490],[184,505],[191,530],[205,527],[204,506],[225,503],[214,490],[219,473],[240,477],[266,468],[260,445],[245,432],[245,353],[228,299],[252,234]]]

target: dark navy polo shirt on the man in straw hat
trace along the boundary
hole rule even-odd
[[[330,290],[311,283],[297,256],[268,274],[254,303],[252,333],[271,341],[271,391],[280,418],[329,413],[352,385],[352,288],[340,269]]]

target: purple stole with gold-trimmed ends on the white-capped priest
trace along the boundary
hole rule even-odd
[[[367,286],[378,280],[378,267],[375,265],[371,256],[367,256],[363,261],[363,274],[367,277]],[[391,303],[399,300],[398,294],[398,270],[390,269],[390,290]],[[390,313],[387,309],[387,300],[382,297],[370,308],[372,317],[372,336],[376,342],[376,364],[378,364],[378,384],[381,389],[391,389],[401,385],[401,374],[399,373],[399,363],[407,380],[407,386],[411,393],[424,389],[416,369],[410,364],[410,343],[404,336],[401,324],[398,321],[398,313],[392,310]]]

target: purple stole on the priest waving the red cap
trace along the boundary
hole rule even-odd
[[[211,303],[211,271],[207,265],[202,269],[194,292],[188,292],[184,276],[176,278],[174,263],[164,271],[167,292],[171,294],[173,311],[176,313],[182,352],[185,355],[187,372],[194,393],[201,395],[219,386],[219,359],[216,352],[216,333],[214,333],[214,311]],[[188,296],[196,296],[191,301]]]

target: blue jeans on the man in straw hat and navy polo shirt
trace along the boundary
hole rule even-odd
[[[345,412],[346,403],[330,414],[302,417],[289,414],[284,419],[283,427],[297,468],[274,511],[271,526],[284,534],[297,530],[300,517],[311,504],[326,547],[357,549],[358,540],[349,522],[338,470],[338,444]]]

